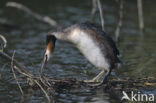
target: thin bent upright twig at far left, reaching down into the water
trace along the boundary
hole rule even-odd
[[[14,56],[15,56],[15,51],[14,51],[14,53],[13,53],[13,55],[12,55],[11,69],[12,69],[13,76],[14,76],[16,82],[17,82],[17,85],[18,85],[18,87],[19,87],[19,89],[20,89],[20,91],[21,91],[21,94],[23,95],[23,94],[24,94],[24,93],[23,93],[23,90],[22,90],[22,88],[21,88],[21,86],[20,86],[20,84],[19,84],[19,82],[18,82],[18,80],[17,80],[16,74],[15,74],[15,71],[14,71],[14,67],[13,67],[13,66],[14,66],[14,63],[13,63]]]

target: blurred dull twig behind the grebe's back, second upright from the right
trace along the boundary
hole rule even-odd
[[[123,0],[120,0],[120,10],[119,10],[119,22],[115,30],[115,39],[118,41],[120,35],[120,29],[123,22]]]

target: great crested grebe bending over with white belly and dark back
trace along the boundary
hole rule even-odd
[[[119,51],[111,37],[94,24],[85,22],[48,33],[42,68],[45,68],[52,55],[57,39],[75,44],[94,66],[102,70],[92,80],[85,80],[86,82],[99,82],[102,79],[100,84],[104,84],[111,70],[120,62],[117,57]]]

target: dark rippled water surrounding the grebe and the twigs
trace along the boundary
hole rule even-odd
[[[76,22],[90,19],[90,0],[16,0],[33,11],[55,19],[61,26],[69,26]],[[37,74],[41,66],[45,46],[45,35],[53,27],[34,19],[32,16],[15,8],[5,6],[7,0],[0,1],[0,18],[5,18],[18,26],[18,29],[6,29],[0,26],[0,33],[8,40],[6,52],[27,66]],[[114,38],[114,31],[118,21],[118,4],[114,0],[103,1],[105,31]],[[137,7],[135,0],[126,0],[124,7],[123,27],[120,33],[118,48],[121,53],[123,66],[114,70],[117,77],[156,77],[156,23],[154,0],[144,0],[145,33],[140,35],[138,28]],[[95,23],[100,25],[98,13]],[[5,63],[5,65],[4,65]],[[26,90],[24,98],[16,85],[10,64],[0,58],[0,102],[2,103],[46,103],[47,100],[41,91]],[[99,71],[91,65],[81,53],[72,45],[57,42],[52,60],[45,70],[47,76],[57,78],[76,78],[79,80],[91,79]],[[152,91],[155,93],[155,91]],[[64,103],[96,102],[118,103],[120,100],[105,93],[103,90],[72,90],[69,93],[59,93],[52,97],[53,101]]]

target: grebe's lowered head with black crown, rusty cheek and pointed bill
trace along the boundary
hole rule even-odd
[[[44,59],[42,64],[42,69],[46,67],[47,62],[49,61],[51,55],[54,52],[56,37],[54,35],[47,35],[46,38],[46,50],[44,53]]]

